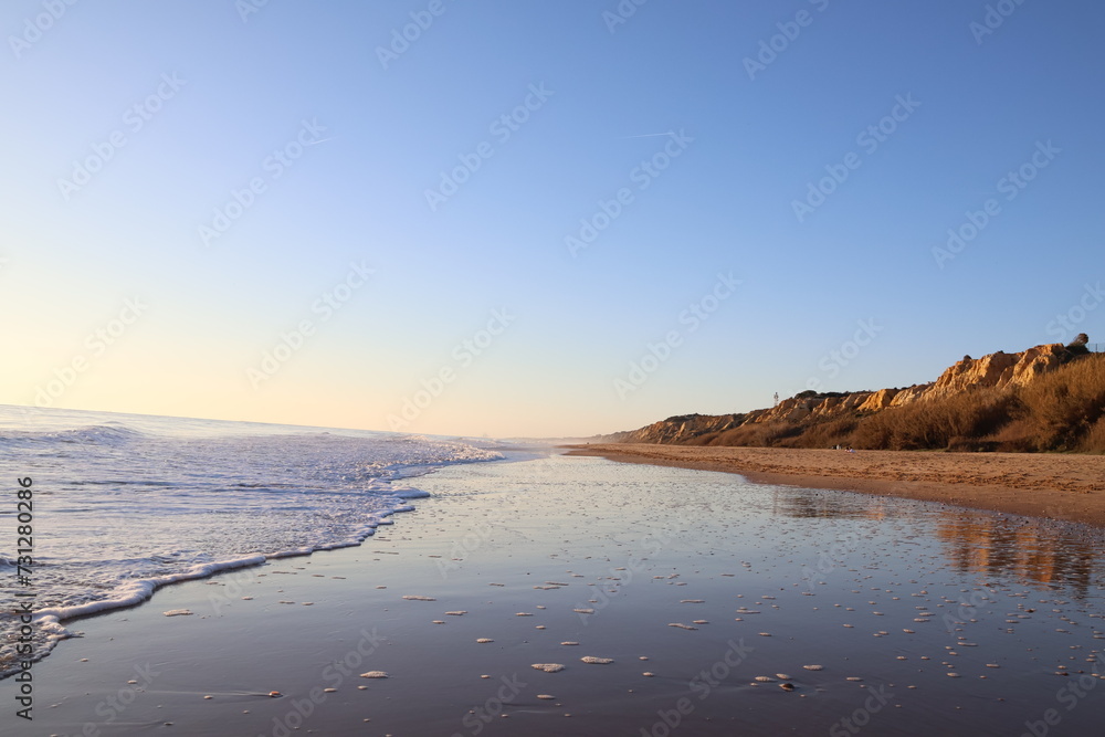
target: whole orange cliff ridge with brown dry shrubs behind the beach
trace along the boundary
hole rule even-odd
[[[623,433],[618,440],[760,448],[1105,453],[1105,354],[1080,355],[1062,346],[1046,347],[1051,348],[1049,354],[1040,348],[1044,347],[978,360],[968,357],[940,380],[924,387],[818,394],[802,398],[804,404],[796,398],[774,410],[724,415],[724,421],[706,415],[671,418]],[[1044,365],[1040,356],[1055,360]],[[1011,360],[1013,357],[1019,358]],[[1021,370],[1029,365],[1036,368]],[[971,380],[972,371],[977,380]],[[895,394],[898,400],[893,399]]]

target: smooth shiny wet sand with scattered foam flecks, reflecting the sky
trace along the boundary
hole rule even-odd
[[[72,623],[33,725],[0,682],[4,734],[1099,727],[1088,528],[593,457],[414,481],[434,497],[361,547]]]

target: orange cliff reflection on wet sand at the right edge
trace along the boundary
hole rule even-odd
[[[938,519],[936,535],[957,570],[1011,573],[1081,596],[1101,575],[1102,540],[1093,530],[1075,530],[1040,519],[964,516]]]

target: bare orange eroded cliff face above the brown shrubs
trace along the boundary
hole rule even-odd
[[[1046,344],[1019,354],[998,351],[981,358],[965,356],[930,383],[905,389],[854,391],[842,396],[792,397],[776,407],[747,414],[687,414],[654,422],[640,430],[614,433],[603,440],[624,443],[686,443],[748,423],[811,424],[838,418],[881,412],[891,407],[945,399],[977,387],[1017,387],[1055,370],[1071,359],[1063,344]]]

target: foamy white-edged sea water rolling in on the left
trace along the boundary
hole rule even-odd
[[[74,633],[66,620],[133,606],[167,583],[359,545],[428,496],[411,485],[419,475],[501,460],[495,445],[0,407],[0,676],[15,672],[28,601],[39,660]],[[18,480],[28,477],[31,510],[19,517]],[[30,549],[19,540],[28,529]]]

